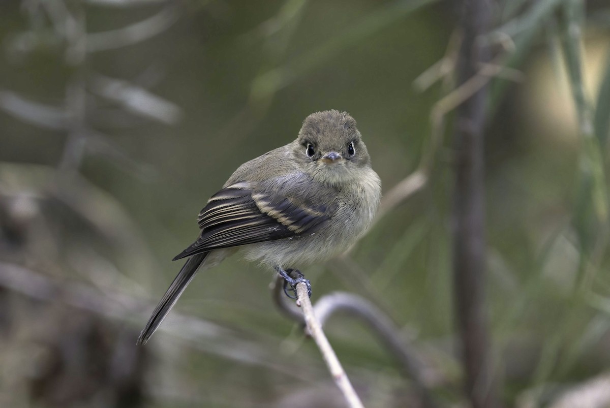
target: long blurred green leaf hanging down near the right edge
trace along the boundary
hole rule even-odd
[[[561,323],[556,323],[553,334],[545,338],[542,354],[534,374],[536,384],[543,385],[551,374],[561,374],[562,367],[570,367],[580,349],[574,345],[583,340],[584,310],[581,296],[583,282],[587,282],[587,271],[592,268],[592,252],[600,242],[599,226],[608,218],[608,196],[603,171],[603,160],[598,138],[594,135],[593,111],[587,98],[583,81],[583,52],[581,23],[584,5],[578,0],[566,0],[561,14],[561,46],[564,63],[572,91],[572,99],[578,116],[578,130],[581,135],[581,151],[578,160],[580,181],[576,206],[573,211],[574,223],[580,243],[578,272],[580,284],[565,304]],[[592,279],[589,279],[592,281]],[[568,361],[564,361],[567,359]]]

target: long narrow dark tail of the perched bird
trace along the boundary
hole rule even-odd
[[[190,283],[193,276],[195,276],[195,272],[201,262],[206,259],[207,254],[209,252],[204,252],[203,254],[196,254],[190,257],[187,262],[184,264],[184,267],[178,273],[178,276],[171,282],[170,287],[168,288],[165,295],[152,312],[151,318],[149,318],[148,323],[140,333],[140,337],[138,337],[137,344],[146,344],[151,335],[157,330],[157,327],[161,324],[163,319],[167,316],[167,313],[170,312],[170,309],[174,306],[184,289]]]

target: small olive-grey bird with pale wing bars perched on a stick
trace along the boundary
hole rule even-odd
[[[140,333],[156,331],[198,270],[234,252],[276,270],[320,262],[348,249],[368,229],[381,181],[346,112],[312,113],[292,143],[239,166],[207,201],[198,240],[174,258],[188,257]],[[308,282],[307,282],[308,283]]]

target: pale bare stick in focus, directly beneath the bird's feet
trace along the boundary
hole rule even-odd
[[[320,322],[315,317],[314,307],[312,307],[311,301],[309,300],[307,285],[303,282],[296,284],[296,297],[296,305],[303,309],[303,317],[305,318],[307,330],[309,330],[311,337],[314,338],[315,343],[318,345],[320,353],[322,353],[322,357],[326,362],[326,366],[331,373],[332,379],[334,379],[337,387],[339,387],[343,393],[348,406],[351,408],[364,408],[356,391],[354,391],[354,387],[351,385],[350,379],[347,378],[347,374],[345,374],[345,370],[343,370],[339,359],[337,359],[337,354],[335,354],[331,347],[331,343],[328,342],[328,338],[326,338],[324,331],[322,331]]]

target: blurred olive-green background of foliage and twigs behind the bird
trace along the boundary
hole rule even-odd
[[[503,406],[610,406],[605,0],[490,1],[486,313]],[[326,324],[367,407],[468,406],[456,354],[451,1],[0,2],[0,406],[339,407],[269,270],[229,259],[135,340],[241,163],[309,113],[358,122],[375,226],[304,270],[367,299]],[[468,90],[466,90],[467,92]],[[411,367],[413,368],[413,367]]]

